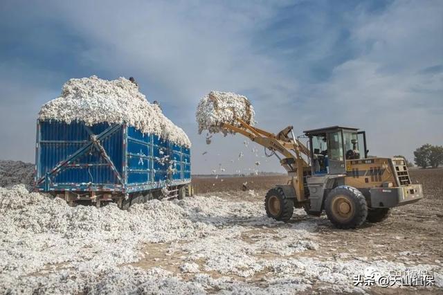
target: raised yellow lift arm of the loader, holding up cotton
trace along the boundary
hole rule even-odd
[[[309,159],[310,152],[305,145],[295,138],[292,132],[293,127],[288,126],[275,135],[263,129],[253,127],[240,118],[237,118],[237,121],[239,127],[228,123],[222,123],[221,127],[231,132],[243,134],[251,141],[263,145],[266,149],[282,154],[283,158],[279,157],[278,154],[275,155],[280,159],[280,164],[287,170],[288,175],[292,177],[291,184],[296,192],[297,201],[304,202],[303,172],[308,170],[309,164],[302,158],[302,154]],[[292,134],[292,137],[288,136],[289,133]]]

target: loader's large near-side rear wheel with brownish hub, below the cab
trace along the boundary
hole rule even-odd
[[[355,229],[368,216],[365,197],[352,186],[338,186],[331,190],[326,198],[325,211],[338,229]]]

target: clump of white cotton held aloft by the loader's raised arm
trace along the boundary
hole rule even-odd
[[[249,125],[254,125],[254,108],[246,96],[232,92],[210,91],[208,95],[201,98],[197,107],[197,123],[199,134],[203,130],[210,133],[231,133],[221,128],[222,123],[239,126],[236,118],[244,120]]]

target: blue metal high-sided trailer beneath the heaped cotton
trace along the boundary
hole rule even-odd
[[[190,148],[123,124],[37,120],[35,190],[67,202],[192,195]]]

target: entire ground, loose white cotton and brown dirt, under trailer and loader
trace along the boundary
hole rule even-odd
[[[424,199],[352,230],[300,208],[266,217],[284,176],[195,178],[194,197],[129,211],[0,188],[0,294],[443,294],[443,169],[410,175]],[[353,283],[411,270],[434,285]]]

